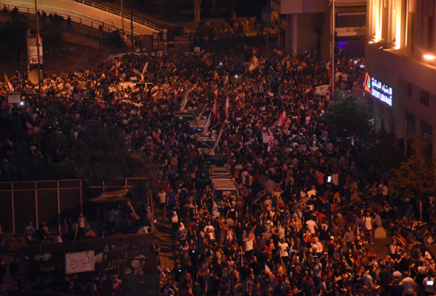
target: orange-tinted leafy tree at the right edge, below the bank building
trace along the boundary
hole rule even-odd
[[[417,198],[422,202],[436,192],[435,158],[428,161],[424,151],[428,142],[421,142],[417,138],[408,139],[414,154],[401,163],[398,170],[393,171],[392,185],[400,197]]]

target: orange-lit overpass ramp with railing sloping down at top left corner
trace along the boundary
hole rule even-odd
[[[35,13],[34,0],[0,0],[0,9],[3,6],[11,11],[15,6],[19,12]],[[121,31],[123,22],[121,12],[98,3],[88,0],[38,0],[38,10],[49,13],[56,13],[65,19],[70,16],[73,22],[81,23],[93,28],[97,28],[104,23],[107,28],[116,28]],[[123,14],[124,32],[132,34],[132,16]],[[149,21],[133,16],[133,35],[153,35],[164,28],[156,26]]]

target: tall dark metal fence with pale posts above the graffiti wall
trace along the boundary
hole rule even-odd
[[[0,183],[0,225],[6,234],[23,233],[29,221],[38,229],[42,221],[51,229],[59,229],[64,219],[78,213],[93,216],[91,203],[105,190],[146,186],[151,204],[147,178],[119,178],[109,180],[52,180]]]

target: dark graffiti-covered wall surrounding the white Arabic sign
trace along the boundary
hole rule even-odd
[[[117,235],[20,249],[23,290],[74,295],[111,295],[125,274],[156,276],[155,234]],[[93,254],[92,254],[93,251]],[[78,253],[81,257],[65,254]],[[91,269],[75,273],[76,270]],[[68,266],[69,265],[69,266]],[[69,267],[66,273],[66,267]],[[72,281],[66,283],[65,276]],[[158,281],[157,281],[158,284]],[[70,292],[69,292],[70,293]],[[71,294],[70,293],[70,294]]]

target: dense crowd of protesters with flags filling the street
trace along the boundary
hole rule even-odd
[[[153,156],[155,214],[177,248],[172,270],[158,262],[164,296],[433,295],[435,264],[426,249],[433,220],[419,221],[413,203],[396,199],[388,172],[369,174],[354,147],[320,121],[334,104],[315,92],[329,84],[330,63],[306,53],[257,54],[259,65],[249,64],[253,54],[248,47],[234,55],[126,54],[93,69],[44,73],[39,100],[8,104],[1,94],[1,124],[49,132],[68,126],[73,140],[91,124],[117,127],[139,155]],[[348,55],[337,66],[338,88],[351,92],[362,82]],[[151,85],[121,87],[142,69]],[[31,87],[26,75],[9,79],[15,89]],[[7,91],[8,82],[0,83]],[[174,116],[187,92],[186,109],[204,105],[214,113],[210,130],[222,130],[216,153],[239,187],[241,198],[224,196],[218,217],[212,188],[200,182],[202,151]],[[47,114],[48,106],[62,116]],[[69,157],[67,145],[42,155],[38,139],[29,143],[35,158]],[[14,145],[1,143],[4,175]],[[392,243],[377,258],[368,245],[383,228]]]

